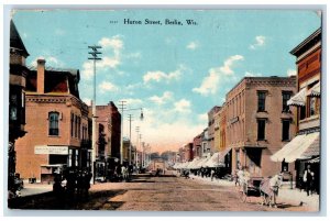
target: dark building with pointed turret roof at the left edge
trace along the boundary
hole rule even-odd
[[[10,22],[10,69],[9,69],[9,144],[8,189],[14,187],[16,173],[15,141],[25,135],[25,86],[30,70],[25,66],[29,53],[14,25]]]

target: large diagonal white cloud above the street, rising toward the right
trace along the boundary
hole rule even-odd
[[[194,88],[193,91],[202,96],[215,95],[218,90],[220,79],[233,76],[234,71],[232,68],[235,62],[243,59],[242,55],[233,55],[224,60],[223,66],[210,68],[209,75],[202,79],[200,87]]]

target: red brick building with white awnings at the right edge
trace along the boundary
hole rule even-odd
[[[304,40],[290,54],[296,56],[298,80],[297,93],[287,103],[298,111],[297,136],[272,159],[289,167],[297,187],[302,187],[304,170],[310,164],[315,173],[315,188],[319,192],[321,29]]]

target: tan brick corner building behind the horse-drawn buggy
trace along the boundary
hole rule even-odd
[[[296,77],[245,77],[227,93],[226,143],[232,150],[232,169],[243,166],[264,177],[277,172],[270,156],[295,135],[296,113],[286,104],[295,86]]]

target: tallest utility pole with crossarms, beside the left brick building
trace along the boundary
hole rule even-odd
[[[92,123],[91,123],[91,174],[92,174],[92,184],[95,184],[96,178],[96,62],[100,60],[102,58],[98,57],[98,55],[102,54],[101,52],[98,52],[98,49],[102,48],[101,46],[88,46],[91,52],[88,52],[88,54],[91,55],[91,57],[88,57],[88,59],[94,60],[94,93],[92,93],[92,107],[91,107],[91,114],[92,114]]]

